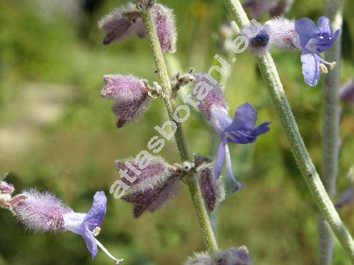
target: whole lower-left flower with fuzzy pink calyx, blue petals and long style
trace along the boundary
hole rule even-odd
[[[101,231],[106,202],[104,192],[96,192],[91,210],[88,213],[75,213],[54,195],[28,189],[13,197],[8,203],[25,228],[34,232],[74,232],[84,238],[93,259],[98,254],[98,246],[119,264],[122,260],[115,259],[95,238]]]

